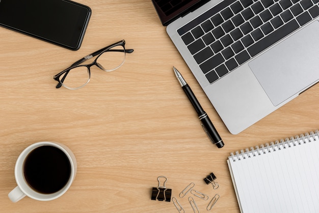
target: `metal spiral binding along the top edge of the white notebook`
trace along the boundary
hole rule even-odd
[[[245,151],[242,149],[240,152],[236,151],[235,154],[233,152],[230,153],[230,158],[233,162],[241,161],[246,159],[247,157],[255,157],[257,155],[266,154],[269,152],[274,152],[281,149],[290,148],[291,146],[297,146],[301,144],[306,144],[310,142],[316,141],[315,136],[319,137],[319,131],[315,130],[310,131],[309,133],[306,132],[305,134],[301,134],[300,136],[295,136],[289,138],[285,138],[284,140],[277,140],[275,142],[270,142],[266,144],[261,144],[259,146],[246,148]]]

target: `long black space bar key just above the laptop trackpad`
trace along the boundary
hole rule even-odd
[[[254,57],[259,52],[267,49],[271,45],[275,44],[280,39],[284,38],[285,36],[289,35],[290,33],[294,32],[299,28],[299,24],[295,19],[287,22],[285,25],[283,25],[281,28],[278,28],[276,31],[272,32],[268,36],[262,38],[255,44],[251,45],[247,48],[249,54]]]

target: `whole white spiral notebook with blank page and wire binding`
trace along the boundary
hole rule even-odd
[[[246,148],[227,159],[242,213],[319,212],[319,131]]]

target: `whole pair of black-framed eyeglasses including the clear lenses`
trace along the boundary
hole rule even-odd
[[[133,51],[134,49],[125,49],[125,40],[95,51],[53,76],[59,82],[56,88],[60,88],[61,86],[70,90],[82,88],[90,82],[90,67],[96,65],[101,70],[107,72],[114,71],[124,64],[126,53]],[[91,64],[79,65],[95,56],[97,58]]]

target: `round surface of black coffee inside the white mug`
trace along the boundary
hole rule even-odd
[[[25,158],[23,172],[31,188],[42,194],[51,194],[66,185],[71,165],[62,150],[54,146],[40,146]]]

